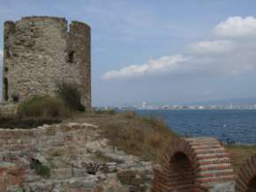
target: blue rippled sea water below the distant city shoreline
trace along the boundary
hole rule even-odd
[[[181,135],[256,144],[256,110],[138,110],[136,113],[160,117]]]

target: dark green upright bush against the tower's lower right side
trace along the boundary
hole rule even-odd
[[[64,100],[66,107],[72,111],[85,111],[85,107],[81,104],[81,93],[78,85],[61,83],[57,84],[57,92],[59,98]]]

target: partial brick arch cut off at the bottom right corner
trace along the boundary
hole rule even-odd
[[[256,191],[256,154],[240,167],[236,178],[236,192]]]

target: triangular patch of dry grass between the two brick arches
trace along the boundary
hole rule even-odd
[[[226,150],[230,154],[231,164],[234,172],[239,171],[239,167],[250,158],[253,154],[256,154],[256,145],[236,145],[230,144],[225,146]]]

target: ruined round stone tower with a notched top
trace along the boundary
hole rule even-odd
[[[65,18],[26,17],[4,23],[3,100],[56,95],[57,83],[79,85],[91,107],[90,26]]]

